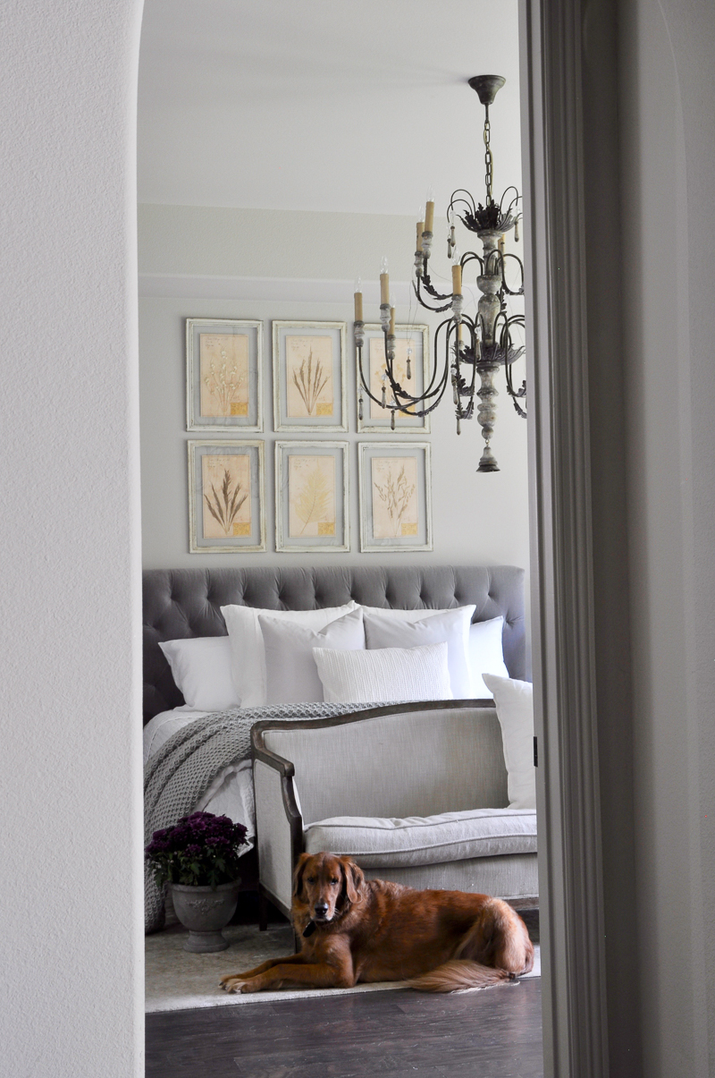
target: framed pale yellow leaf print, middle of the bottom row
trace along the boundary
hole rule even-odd
[[[276,550],[350,550],[347,442],[276,442]]]

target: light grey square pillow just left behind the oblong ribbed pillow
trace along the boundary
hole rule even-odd
[[[313,648],[363,651],[365,630],[360,607],[313,630],[262,613],[258,624],[266,649],[266,703],[299,704],[323,699]]]

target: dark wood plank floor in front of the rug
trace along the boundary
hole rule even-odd
[[[541,980],[146,1015],[146,1078],[542,1078]]]

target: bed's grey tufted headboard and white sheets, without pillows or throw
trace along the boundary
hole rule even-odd
[[[473,605],[473,623],[493,622],[501,617],[504,619],[503,658],[508,676],[525,677],[523,570],[520,568],[150,569],[143,573],[145,765],[182,738],[190,744],[188,733],[208,714],[187,706],[160,644],[196,637],[226,637],[226,624],[221,613],[221,607],[225,606],[306,611],[341,607],[351,600],[368,608],[425,612]],[[392,699],[401,697],[396,694]],[[263,711],[247,711],[246,715],[256,720],[267,717]],[[279,713],[277,715],[280,717]],[[165,746],[168,748],[165,749]],[[242,756],[243,759],[232,760],[218,771],[191,807],[225,813],[246,823],[250,847],[254,838],[253,783],[250,759],[246,758],[246,754]],[[255,868],[247,872],[248,886],[252,885],[254,877]]]

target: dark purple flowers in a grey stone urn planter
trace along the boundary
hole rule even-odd
[[[195,812],[173,827],[155,831],[145,856],[158,887],[168,884],[177,916],[188,939],[185,951],[225,951],[221,931],[238,902],[239,847],[246,828],[228,816]]]

